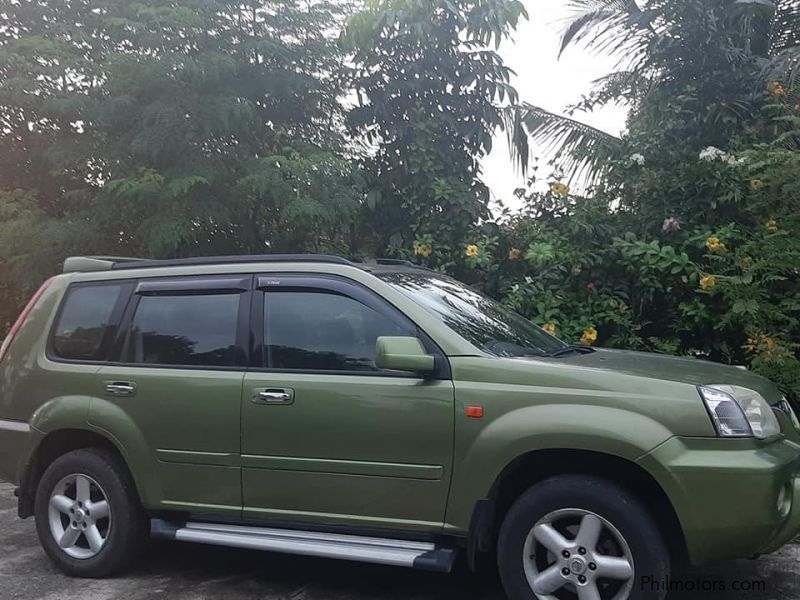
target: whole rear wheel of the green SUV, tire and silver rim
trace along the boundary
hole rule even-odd
[[[120,459],[106,450],[69,452],[45,470],[36,491],[36,530],[68,575],[105,577],[130,564],[148,520]]]

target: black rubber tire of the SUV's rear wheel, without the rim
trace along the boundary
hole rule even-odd
[[[50,496],[60,481],[76,474],[99,484],[111,506],[105,543],[89,558],[67,554],[50,528]],[[44,551],[59,569],[74,577],[100,578],[119,573],[138,557],[150,534],[149,520],[128,469],[116,454],[102,448],[75,450],[54,460],[39,481],[34,515]]]

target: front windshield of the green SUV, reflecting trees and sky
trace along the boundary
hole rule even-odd
[[[549,356],[569,348],[529,320],[472,288],[436,273],[377,273],[484,352]]]

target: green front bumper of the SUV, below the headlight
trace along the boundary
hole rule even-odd
[[[639,464],[672,501],[692,564],[774,552],[800,534],[792,441],[675,437]]]

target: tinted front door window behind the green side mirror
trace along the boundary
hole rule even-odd
[[[375,342],[416,335],[361,302],[332,293],[272,292],[264,305],[265,358],[274,369],[375,371]]]

